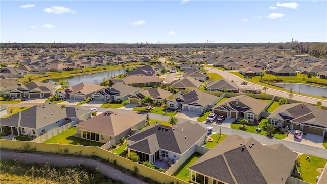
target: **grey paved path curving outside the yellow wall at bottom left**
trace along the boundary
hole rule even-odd
[[[123,183],[130,183],[130,184],[146,183],[135,177],[124,174],[120,170],[115,169],[107,164],[89,158],[74,157],[74,156],[59,156],[54,154],[17,153],[13,151],[12,152],[1,151],[0,158],[1,160],[18,160],[24,163],[38,163],[38,164],[49,163],[57,167],[77,166],[79,164],[84,164],[91,168],[97,168],[97,170],[101,174],[104,174],[115,180],[120,180]]]

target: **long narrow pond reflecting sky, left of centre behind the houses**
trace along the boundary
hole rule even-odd
[[[111,70],[111,71],[106,71],[106,72],[99,72],[99,73],[93,73],[93,74],[85,74],[85,75],[79,75],[79,76],[73,76],[73,77],[67,77],[67,78],[62,78],[62,79],[50,79],[50,80],[45,80],[42,82],[45,83],[50,83],[54,84],[55,82],[59,82],[61,80],[69,80],[71,82],[69,86],[74,86],[76,84],[79,84],[81,82],[87,82],[91,84],[99,84],[101,83],[104,79],[110,79],[112,77],[118,76],[119,74],[124,74],[124,69],[119,69],[119,70]]]

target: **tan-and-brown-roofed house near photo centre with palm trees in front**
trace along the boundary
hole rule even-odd
[[[174,94],[165,89],[151,88],[139,91],[138,94],[130,96],[129,103],[131,104],[142,104],[142,100],[145,97],[151,97],[155,100],[156,104],[164,104],[168,98],[172,97]]]

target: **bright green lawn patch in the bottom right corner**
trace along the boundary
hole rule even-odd
[[[310,161],[306,157],[310,157]],[[296,169],[301,171],[301,177],[303,181],[310,183],[316,183],[316,177],[320,176],[317,171],[318,168],[323,168],[326,165],[327,159],[316,157],[313,155],[302,154],[298,157],[300,166],[296,166]]]

